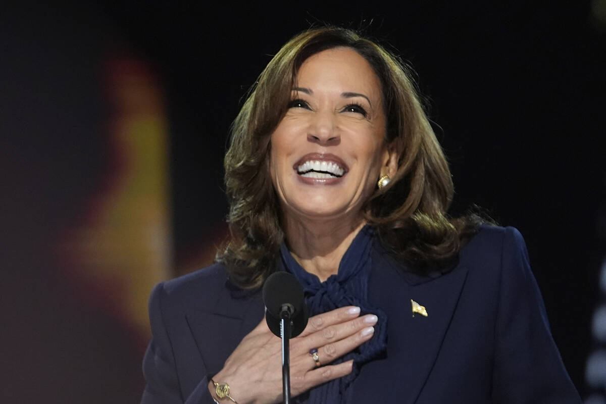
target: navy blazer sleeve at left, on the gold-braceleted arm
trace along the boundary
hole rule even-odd
[[[215,404],[208,391],[208,377],[203,377],[188,397],[183,397],[173,346],[165,326],[166,292],[164,283],[151,292],[149,315],[151,341],[143,359],[145,389],[141,404]]]

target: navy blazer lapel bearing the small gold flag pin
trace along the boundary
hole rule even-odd
[[[422,277],[405,271],[384,254],[375,255],[369,285],[371,304],[387,312],[387,352],[383,359],[362,366],[355,380],[353,402],[373,402],[381,389],[381,401],[415,403],[427,381],[448,331],[467,279],[467,268],[456,267],[438,277]],[[427,311],[413,313],[411,300]],[[385,380],[398,383],[384,385]]]

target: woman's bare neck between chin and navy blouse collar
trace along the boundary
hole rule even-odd
[[[308,273],[324,282],[339,271],[339,263],[351,242],[365,225],[362,217],[330,222],[284,218],[288,249]]]

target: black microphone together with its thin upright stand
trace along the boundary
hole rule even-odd
[[[303,288],[292,274],[275,272],[263,285],[263,303],[267,326],[282,339],[282,397],[290,404],[289,340],[303,332],[308,319]]]

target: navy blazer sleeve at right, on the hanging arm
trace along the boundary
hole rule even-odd
[[[518,230],[505,229],[496,321],[494,403],[581,403],[551,336]]]

